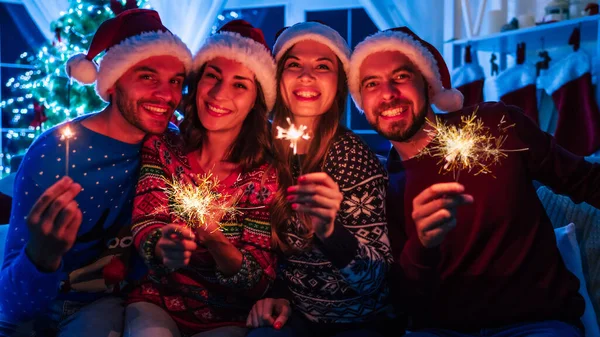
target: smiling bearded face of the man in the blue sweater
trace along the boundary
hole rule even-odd
[[[129,124],[144,133],[160,134],[181,101],[184,77],[179,59],[154,56],[127,70],[107,92]]]

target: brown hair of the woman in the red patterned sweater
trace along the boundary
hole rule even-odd
[[[206,64],[199,71],[191,74],[187,81],[188,94],[183,99],[183,121],[179,126],[186,151],[202,149],[202,142],[206,139],[206,128],[198,118],[196,104],[198,82],[202,78],[205,68]],[[254,81],[256,83],[254,106],[244,119],[240,133],[230,145],[223,159],[227,162],[239,163],[243,171],[271,161],[273,157],[265,95],[260,83],[256,79]]]

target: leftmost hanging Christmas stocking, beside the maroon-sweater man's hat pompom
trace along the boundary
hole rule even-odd
[[[452,71],[452,86],[463,94],[463,106],[483,102],[483,82],[485,75],[479,64],[473,63],[471,46],[465,48],[464,64]]]

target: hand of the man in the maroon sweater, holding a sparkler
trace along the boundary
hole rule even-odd
[[[429,186],[415,197],[412,218],[423,246],[439,246],[456,227],[456,209],[473,203],[471,195],[462,194],[464,190],[459,183],[441,183]]]

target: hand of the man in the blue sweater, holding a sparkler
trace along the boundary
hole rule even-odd
[[[63,177],[35,202],[27,216],[30,238],[25,252],[38,269],[54,272],[73,247],[82,214],[75,197],[81,185]]]

